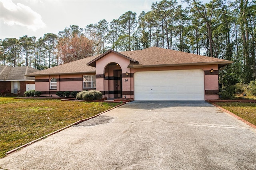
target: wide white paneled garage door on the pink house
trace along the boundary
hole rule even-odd
[[[134,99],[204,100],[204,71],[137,71],[134,73]]]

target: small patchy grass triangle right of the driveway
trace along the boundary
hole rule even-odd
[[[256,125],[256,103],[216,102],[215,104]]]

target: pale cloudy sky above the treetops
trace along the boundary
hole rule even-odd
[[[71,25],[86,28],[105,19],[111,22],[127,11],[151,10],[159,0],[0,0],[0,39],[58,34]],[[180,0],[177,0],[180,2]]]

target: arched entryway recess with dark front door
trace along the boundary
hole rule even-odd
[[[122,97],[122,69],[118,63],[109,63],[104,69],[104,96]]]

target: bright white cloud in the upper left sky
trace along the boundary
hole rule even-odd
[[[1,20],[9,26],[24,26],[33,31],[46,27],[41,15],[28,6],[14,4],[11,0],[0,0],[0,6]]]

